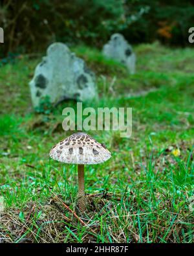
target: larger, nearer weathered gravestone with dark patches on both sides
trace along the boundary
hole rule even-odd
[[[92,100],[97,93],[94,73],[63,43],[48,47],[29,85],[34,107],[46,96],[57,104],[63,99]]]

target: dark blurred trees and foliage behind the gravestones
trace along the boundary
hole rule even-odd
[[[114,32],[130,43],[191,46],[191,0],[29,0],[0,2],[0,56],[45,50],[53,41],[102,47]]]

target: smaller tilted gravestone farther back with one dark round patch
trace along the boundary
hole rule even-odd
[[[103,54],[127,66],[130,74],[135,73],[136,55],[122,34],[113,34],[103,46]]]

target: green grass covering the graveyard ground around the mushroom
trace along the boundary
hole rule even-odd
[[[137,71],[107,60],[97,49],[73,49],[96,72],[99,102],[133,108],[133,134],[89,132],[112,153],[85,170],[89,209],[72,216],[77,170],[49,159],[67,137],[61,112],[35,113],[28,81],[40,58],[21,56],[1,67],[0,193],[5,242],[193,242],[194,50],[138,45]],[[111,88],[110,88],[111,85]],[[84,104],[87,106],[87,104]],[[180,150],[174,156],[173,150]],[[58,200],[56,199],[58,196]],[[1,207],[0,207],[1,209]],[[81,216],[80,216],[81,217]]]

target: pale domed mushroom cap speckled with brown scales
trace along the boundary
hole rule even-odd
[[[84,132],[72,134],[50,150],[49,156],[62,163],[94,165],[111,157],[105,145]]]

